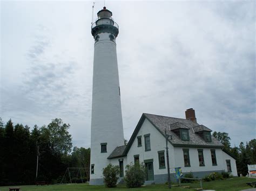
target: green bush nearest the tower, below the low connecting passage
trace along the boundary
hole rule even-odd
[[[109,164],[106,168],[103,168],[103,179],[105,185],[109,188],[116,187],[119,173],[119,166]]]

